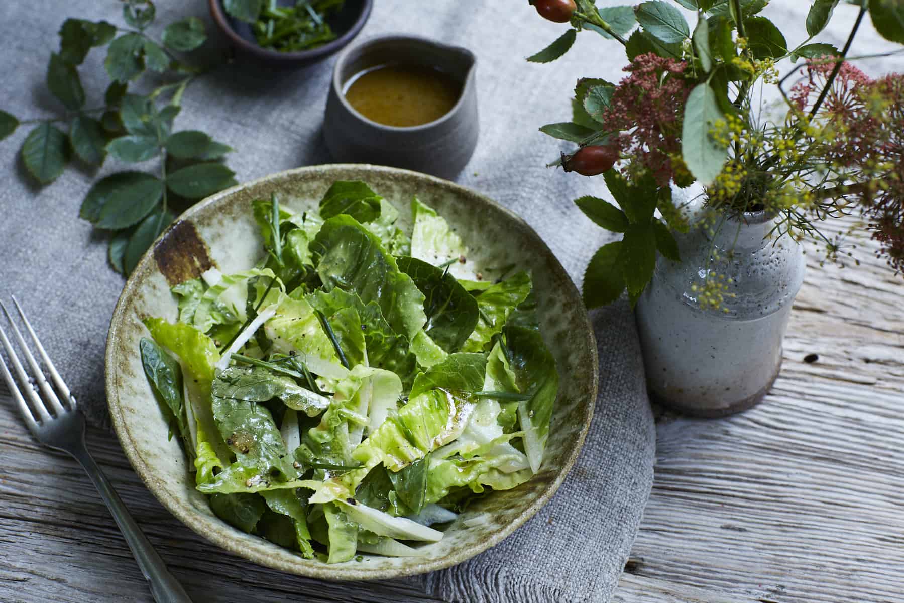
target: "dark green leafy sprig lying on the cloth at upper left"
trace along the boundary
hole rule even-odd
[[[21,154],[39,184],[56,180],[73,154],[94,167],[108,155],[127,164],[159,163],[155,173],[127,170],[104,177],[81,204],[81,218],[110,231],[110,265],[126,275],[174,220],[174,205],[236,184],[233,172],[221,163],[230,146],[201,131],[173,131],[184,92],[202,73],[180,55],[207,40],[204,25],[187,17],[167,25],[155,40],[146,31],[155,13],[150,0],[127,0],[125,26],[67,19],[59,32],[59,52],[51,54],[47,66],[47,88],[60,101],[60,113],[20,120],[0,110],[0,140],[19,125],[34,125]],[[104,68],[110,83],[102,103],[88,103],[79,68],[91,49],[102,47],[107,48]],[[143,74],[153,75],[159,85],[147,94],[130,92]]]

